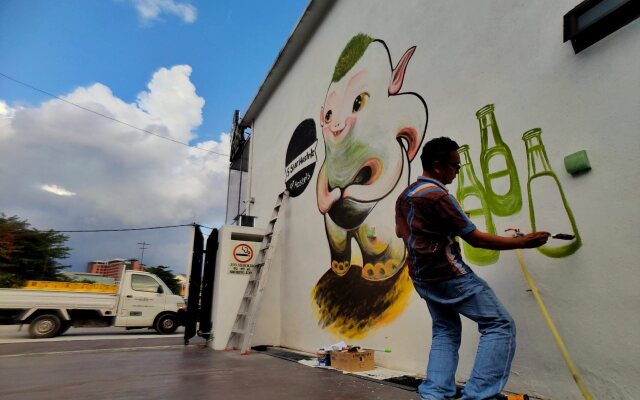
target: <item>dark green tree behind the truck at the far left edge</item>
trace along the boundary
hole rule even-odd
[[[0,287],[20,287],[27,280],[65,280],[69,268],[58,260],[69,257],[69,237],[30,228],[27,220],[0,213]]]

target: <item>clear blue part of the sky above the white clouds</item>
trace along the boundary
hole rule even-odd
[[[56,95],[100,82],[130,102],[158,68],[187,64],[205,99],[198,137],[217,138],[233,109],[243,112],[253,99],[307,1],[174,3],[191,5],[195,20],[167,11],[145,19],[130,0],[3,0],[0,72]],[[0,96],[48,100],[6,79]]]

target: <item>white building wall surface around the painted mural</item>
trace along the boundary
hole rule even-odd
[[[267,296],[270,304],[265,309],[279,313],[273,319],[263,315],[256,340],[260,327],[278,321],[279,337],[269,333],[264,344],[313,351],[344,338],[321,328],[313,309],[312,290],[331,263],[315,184],[325,158],[320,107],[341,51],[362,32],[386,42],[394,65],[405,50],[417,46],[402,91],[418,93],[428,105],[426,140],[451,136],[469,144],[476,172],[480,135],[475,112],[486,104],[496,105],[497,122],[513,153],[524,194],[519,213],[495,218],[498,231],[508,226],[530,229],[521,137],[531,128],[542,128],[551,166],[583,245],[564,258],[527,250],[525,262],[594,398],[636,397],[640,23],[636,20],[576,55],[562,42],[562,17],[578,0],[372,3],[338,2],[255,120],[250,195],[256,199],[258,227],[266,225],[284,189],[285,153],[296,126],[313,118],[319,140],[313,180],[302,195],[291,199],[276,255],[279,269],[273,287],[279,294]],[[563,158],[582,149],[593,169],[573,177],[565,171]],[[416,158],[412,178],[418,170]],[[455,182],[450,189],[455,193]],[[388,213],[388,223],[378,223],[377,231],[392,229],[394,200],[389,197],[379,204],[377,211]],[[541,215],[558,209],[548,199],[536,203]],[[539,222],[539,229],[545,229],[544,222]],[[474,270],[492,285],[518,325],[518,351],[507,389],[553,399],[581,398],[527,291],[515,254],[502,252],[496,264]],[[362,299],[365,305],[369,301]],[[347,340],[390,347],[392,353],[376,355],[379,364],[422,374],[431,332],[427,308],[411,294],[406,308],[394,316]],[[464,335],[461,381],[469,375],[478,340],[472,324],[465,323]]]

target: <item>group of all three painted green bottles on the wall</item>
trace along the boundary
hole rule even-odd
[[[502,139],[494,111],[495,106],[488,104],[476,113],[480,124],[480,165],[484,186],[476,175],[469,146],[465,144],[458,150],[461,167],[456,191],[456,197],[469,218],[479,229],[493,234],[496,233],[494,216],[515,215],[522,208],[518,171],[511,149]],[[538,248],[538,251],[548,257],[566,257],[582,246],[582,240],[571,207],[549,163],[541,133],[540,128],[535,128],[525,132],[522,137],[528,166],[527,198],[531,231],[539,227],[552,233],[573,236],[568,243],[554,240]],[[534,195],[534,192],[537,194]],[[534,200],[541,197],[554,198],[556,204],[562,205],[544,218],[537,218],[538,221],[544,221],[544,226],[536,224]],[[465,260],[479,266],[494,264],[500,256],[498,251],[475,248],[464,241],[462,249]]]

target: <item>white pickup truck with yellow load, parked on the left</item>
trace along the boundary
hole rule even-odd
[[[187,308],[182,297],[147,272],[124,271],[117,287],[93,285],[111,286],[105,290],[111,293],[98,293],[91,284],[36,283],[40,285],[0,289],[0,325],[29,324],[36,339],[61,335],[72,326],[153,328],[170,334]]]

